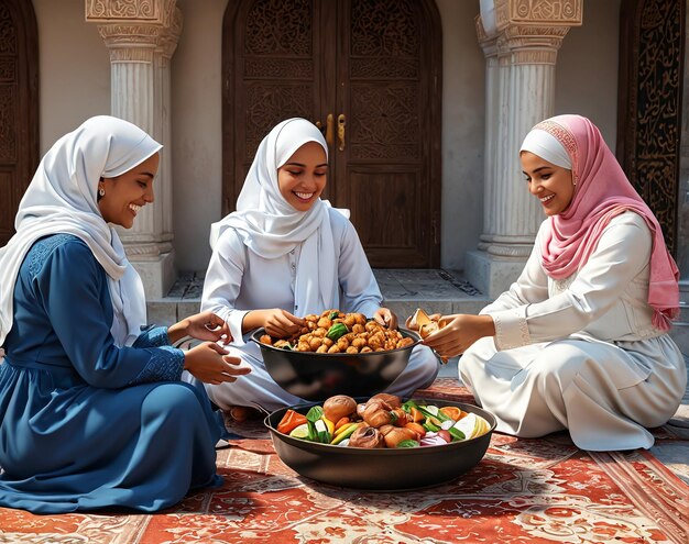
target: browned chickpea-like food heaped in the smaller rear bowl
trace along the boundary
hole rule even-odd
[[[315,353],[371,353],[398,349],[414,344],[397,330],[387,329],[363,313],[326,310],[304,318],[305,325],[289,338],[263,334],[261,343],[283,349]]]

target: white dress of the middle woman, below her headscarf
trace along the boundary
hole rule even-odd
[[[340,300],[330,308],[360,312],[368,317],[381,307],[383,297],[353,225],[339,211],[329,209],[332,244],[338,258]],[[282,308],[295,315],[321,313],[329,308],[295,307],[299,246],[278,258],[266,259],[250,251],[232,229],[226,230],[214,249],[204,281],[201,310],[226,320],[232,333],[232,355],[249,363],[252,371],[232,384],[206,385],[211,400],[222,409],[255,406],[276,410],[304,402],[282,389],[267,374],[261,349],[242,335],[242,321],[250,310]],[[438,358],[426,346],[412,351],[409,363],[386,392],[406,397],[429,386],[439,369]]]

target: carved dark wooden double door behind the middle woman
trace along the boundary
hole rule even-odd
[[[440,23],[433,0],[238,0],[223,23],[223,211],[277,122],[328,134],[325,198],[374,267],[439,266]]]

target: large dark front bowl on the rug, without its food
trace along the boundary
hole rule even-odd
[[[437,407],[452,406],[483,417],[491,429],[486,434],[441,446],[365,449],[361,447],[318,444],[277,431],[288,408],[265,418],[273,445],[281,460],[299,475],[329,484],[367,490],[404,490],[430,487],[461,476],[485,455],[495,429],[495,418],[485,410],[447,400],[428,400]],[[308,406],[291,407],[306,414]]]

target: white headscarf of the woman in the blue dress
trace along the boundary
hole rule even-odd
[[[97,204],[98,181],[131,170],[163,146],[121,119],[99,115],[59,138],[45,154],[19,204],[17,233],[0,248],[0,345],[12,327],[14,284],[24,256],[40,237],[81,238],[108,275],[118,346],[131,345],[146,322],[143,285],[114,227]]]

